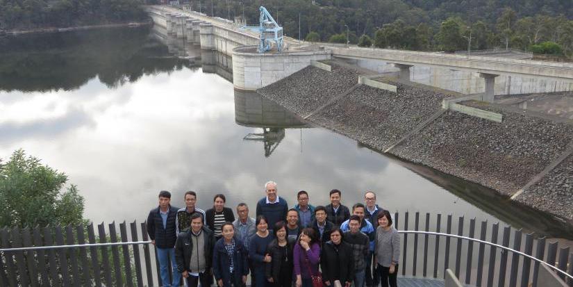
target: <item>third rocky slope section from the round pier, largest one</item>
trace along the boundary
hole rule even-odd
[[[573,126],[465,102],[504,115],[503,123],[448,111],[390,151],[512,195],[563,152]]]

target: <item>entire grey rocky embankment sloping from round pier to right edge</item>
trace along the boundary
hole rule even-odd
[[[332,72],[306,67],[258,92],[301,117],[308,116],[314,124],[382,151],[415,131],[388,152],[508,196],[526,186],[573,141],[570,122],[477,101],[458,104],[499,113],[503,122],[454,110],[440,115],[442,99],[456,94],[391,79],[377,81],[396,85],[397,93],[367,85],[354,87],[360,72],[330,65]],[[430,121],[422,128],[426,120]],[[517,200],[573,222],[573,156]]]

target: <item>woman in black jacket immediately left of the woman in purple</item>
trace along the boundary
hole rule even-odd
[[[292,249],[296,239],[288,238],[285,222],[274,224],[276,238],[267,246],[271,262],[265,263],[265,277],[272,287],[292,287]]]

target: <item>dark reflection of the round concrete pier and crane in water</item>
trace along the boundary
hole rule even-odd
[[[262,128],[262,133],[249,133],[243,140],[263,142],[265,157],[285,138],[285,129],[312,127],[279,104],[254,91],[235,89],[235,122],[240,126]]]

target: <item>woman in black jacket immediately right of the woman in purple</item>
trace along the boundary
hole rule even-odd
[[[329,287],[350,287],[354,279],[354,260],[349,260],[352,247],[343,241],[340,228],[334,227],[330,236],[331,240],[322,245],[320,252],[322,281]]]

